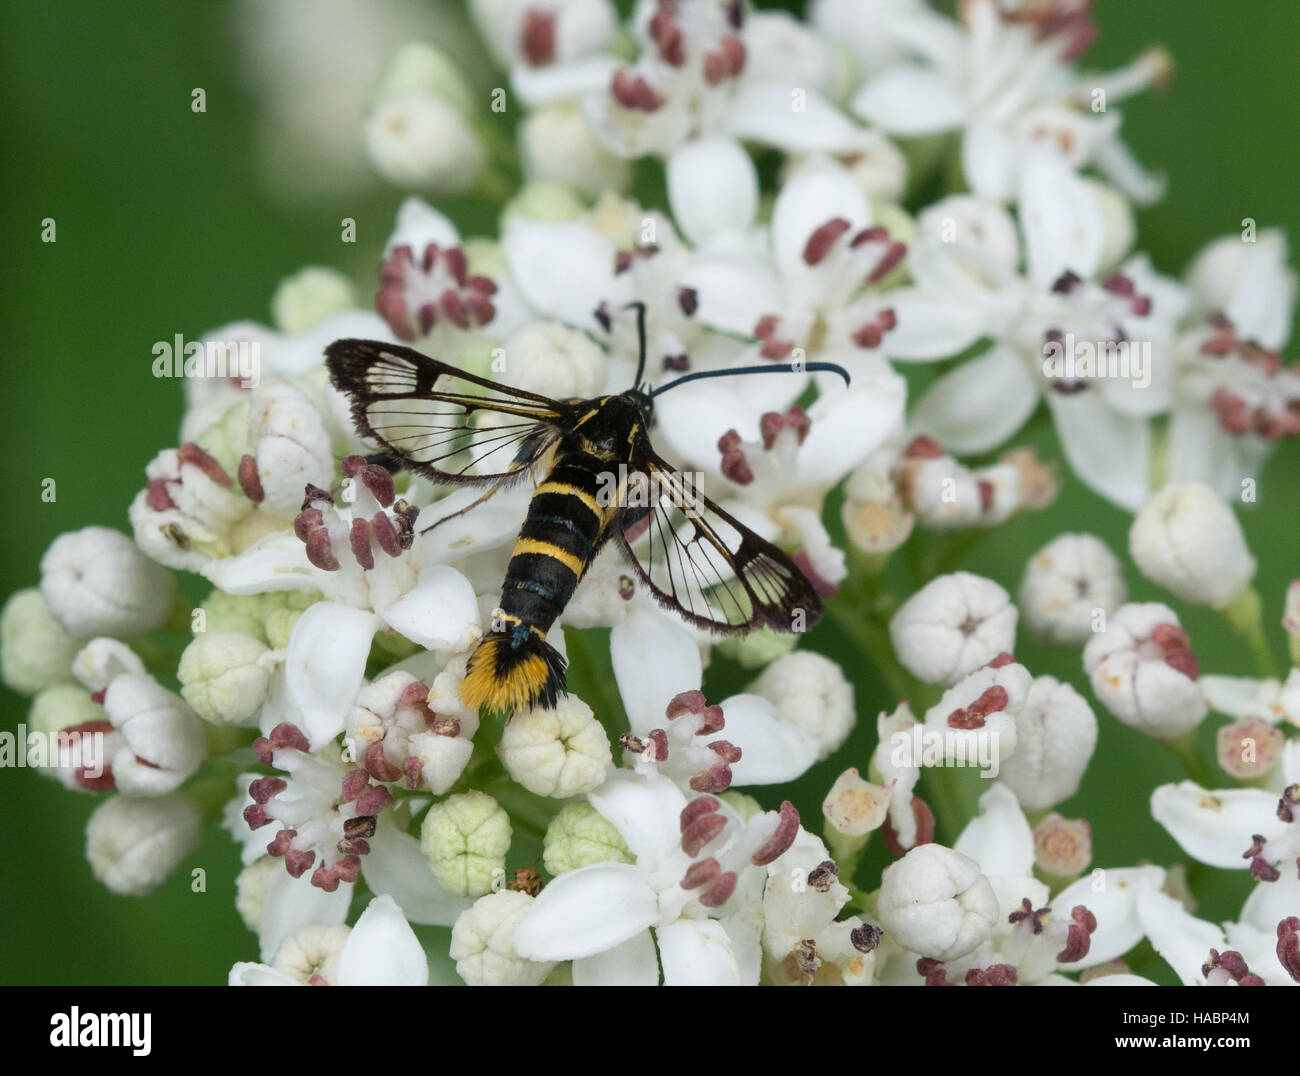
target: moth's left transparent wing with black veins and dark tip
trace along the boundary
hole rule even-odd
[[[356,431],[436,482],[517,478],[555,443],[566,417],[546,396],[382,340],[335,340],[325,361]]]

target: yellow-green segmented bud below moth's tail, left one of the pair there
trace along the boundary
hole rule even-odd
[[[503,877],[510,816],[486,793],[467,791],[436,803],[420,826],[420,849],[447,893],[482,897]]]

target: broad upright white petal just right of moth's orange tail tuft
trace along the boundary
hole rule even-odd
[[[690,633],[655,609],[637,609],[610,633],[610,660],[636,736],[662,728],[668,703],[703,678]]]

